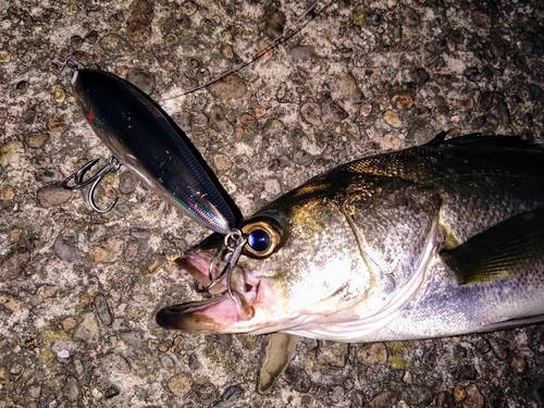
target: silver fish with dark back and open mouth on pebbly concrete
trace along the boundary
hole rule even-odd
[[[339,165],[242,220],[231,285],[249,317],[223,280],[157,323],[354,343],[542,322],[544,148],[446,134]],[[206,286],[221,245],[212,234],[176,263]]]

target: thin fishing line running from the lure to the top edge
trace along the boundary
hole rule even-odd
[[[307,9],[304,14],[297,18],[297,21],[294,23],[294,25],[297,25],[300,21],[302,21],[302,18],[305,18],[308,14],[310,14],[310,12],[318,5],[320,0],[317,0],[314,1],[309,9]],[[271,44],[265,47],[263,50],[259,51],[257,53],[256,57],[254,57],[251,60],[247,61],[247,62],[244,62],[242,63],[242,65],[224,73],[223,75],[220,75],[218,78],[213,79],[213,81],[210,81],[209,83],[206,83],[203,85],[200,85],[200,86],[197,86],[196,88],[193,88],[190,90],[187,90],[186,92],[183,92],[183,94],[180,94],[177,96],[174,96],[174,97],[169,97],[169,98],[164,98],[164,99],[160,99],[159,101],[160,102],[164,102],[164,101],[168,101],[168,100],[172,100],[172,99],[176,99],[176,98],[181,98],[181,97],[184,97],[186,95],[190,95],[190,94],[194,94],[196,92],[197,90],[200,90],[200,89],[203,89],[210,85],[213,85],[213,84],[217,84],[219,83],[220,81],[223,81],[224,78],[233,75],[233,74],[236,74],[237,72],[244,70],[246,66],[248,65],[251,65],[254,62],[260,60],[262,57],[264,57],[267,53],[269,53],[270,51],[276,49],[277,47],[280,47],[282,44],[284,44],[285,41],[287,41],[288,39],[290,39],[292,37],[294,37],[296,34],[300,33],[300,30],[306,27],[308,24],[310,24],[313,20],[316,20],[317,17],[321,16],[323,14],[323,12],[329,9],[332,4],[334,3],[334,0],[330,1],[329,3],[326,3],[325,5],[323,5],[323,8],[321,8],[321,10],[317,11],[314,14],[312,14],[310,16],[310,20],[308,20],[306,23],[304,23],[302,25],[300,25],[297,29],[295,30],[292,30],[292,29],[287,29],[284,34],[277,36],[275,39],[273,39],[271,41]]]

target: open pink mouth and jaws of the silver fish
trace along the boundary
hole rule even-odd
[[[205,287],[210,299],[188,301],[165,307],[156,316],[156,321],[164,329],[182,330],[187,333],[223,333],[237,322],[248,321],[255,316],[254,306],[259,299],[260,280],[248,275],[235,265],[227,286],[227,276],[211,280],[209,274],[218,275],[224,268],[224,261],[217,261],[209,271],[213,255],[207,251],[188,252],[176,259],[177,265],[187,271]],[[212,282],[215,282],[213,285]]]

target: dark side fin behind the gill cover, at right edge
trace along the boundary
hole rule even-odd
[[[503,221],[442,251],[441,257],[460,285],[500,280],[543,265],[544,208]]]

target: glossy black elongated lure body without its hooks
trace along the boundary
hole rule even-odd
[[[233,207],[197,159],[184,132],[154,101],[120,77],[78,69],[72,76],[87,122],[118,160],[168,202],[202,225],[226,234]]]

